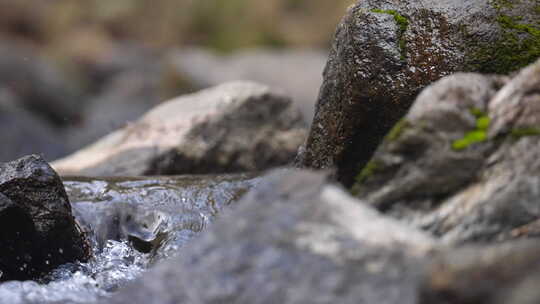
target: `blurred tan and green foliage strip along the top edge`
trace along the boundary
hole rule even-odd
[[[3,35],[88,51],[108,39],[149,47],[326,47],[351,0],[0,0]]]

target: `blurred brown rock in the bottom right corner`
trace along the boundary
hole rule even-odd
[[[440,252],[427,266],[420,304],[540,301],[537,241]]]

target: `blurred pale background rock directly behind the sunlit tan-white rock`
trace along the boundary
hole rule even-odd
[[[252,49],[218,56],[201,48],[173,51],[167,57],[167,85],[206,88],[250,80],[283,89],[311,122],[326,54],[309,49]]]

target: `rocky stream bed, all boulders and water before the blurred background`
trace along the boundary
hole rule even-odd
[[[540,303],[539,16],[358,1],[310,127],[235,81],[1,163],[0,303]]]

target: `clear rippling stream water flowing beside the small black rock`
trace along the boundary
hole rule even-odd
[[[174,255],[258,182],[249,175],[66,178],[94,257],[63,265],[42,282],[2,283],[0,304],[96,303]]]

